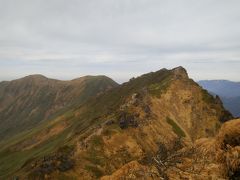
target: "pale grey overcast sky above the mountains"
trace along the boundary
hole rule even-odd
[[[0,81],[177,66],[240,81],[239,0],[0,0]]]

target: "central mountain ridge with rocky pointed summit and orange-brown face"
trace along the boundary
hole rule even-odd
[[[210,178],[195,161],[195,142],[213,138],[229,119],[222,102],[184,68],[161,69],[0,144],[0,177]]]

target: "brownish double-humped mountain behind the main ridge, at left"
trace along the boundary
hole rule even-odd
[[[0,83],[0,138],[7,138],[51,119],[74,104],[117,86],[105,76],[72,81],[31,75]],[[1,141],[1,140],[0,140]]]

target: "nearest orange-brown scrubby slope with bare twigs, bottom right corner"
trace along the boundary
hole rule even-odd
[[[240,178],[240,119],[223,124],[214,138],[201,138],[192,144],[172,147],[161,144],[148,161],[131,161],[112,175],[113,179],[233,179]]]

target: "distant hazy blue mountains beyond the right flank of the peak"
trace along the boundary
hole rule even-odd
[[[240,82],[203,80],[198,83],[210,93],[220,96],[225,108],[234,116],[240,116]]]

